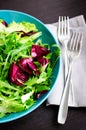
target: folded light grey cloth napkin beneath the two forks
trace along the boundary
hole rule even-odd
[[[86,107],[86,24],[84,16],[80,15],[71,18],[69,23],[72,31],[83,33],[83,42],[80,56],[72,65],[72,86],[69,91],[68,106]],[[57,40],[58,23],[46,24],[46,26]],[[59,105],[62,93],[64,92],[64,65],[62,55],[60,56],[60,59],[61,63],[59,75],[54,84],[54,89],[47,99],[47,105]]]

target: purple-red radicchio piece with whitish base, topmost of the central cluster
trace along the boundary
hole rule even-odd
[[[47,55],[50,52],[50,50],[47,50],[46,48],[40,46],[40,45],[32,45],[31,49],[31,56],[33,58],[39,58],[42,56]]]

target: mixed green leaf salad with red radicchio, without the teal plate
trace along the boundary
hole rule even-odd
[[[42,43],[42,32],[29,22],[0,19],[0,118],[30,108],[51,85],[60,49]]]

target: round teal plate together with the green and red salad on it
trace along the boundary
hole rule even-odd
[[[0,123],[29,114],[52,92],[60,49],[37,18],[0,10]]]

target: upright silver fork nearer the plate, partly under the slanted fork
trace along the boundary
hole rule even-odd
[[[58,32],[57,37],[64,51],[64,64],[65,64],[65,80],[68,72],[68,61],[67,61],[67,43],[70,39],[70,27],[69,27],[69,17],[59,16],[58,20]]]

